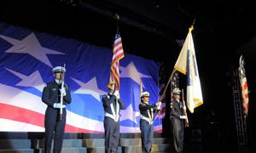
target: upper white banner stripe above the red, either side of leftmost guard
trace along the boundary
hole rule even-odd
[[[47,105],[41,101],[41,97],[27,93],[19,88],[13,88],[0,83],[0,103],[15,105],[30,111],[44,115]],[[90,118],[79,116],[72,111],[67,111],[67,124],[94,131],[104,131],[103,123]],[[3,127],[4,124],[0,124]],[[5,125],[4,125],[5,127]],[[22,129],[20,129],[22,130]],[[33,130],[32,130],[33,131]]]

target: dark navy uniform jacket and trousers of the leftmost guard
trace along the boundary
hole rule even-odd
[[[63,97],[63,105],[71,103],[70,89],[65,84],[66,96]],[[61,152],[64,129],[66,124],[67,111],[62,110],[62,119],[59,121],[60,109],[54,108],[55,103],[60,103],[60,89],[61,84],[56,82],[49,82],[44,88],[42,101],[47,105],[44,117],[45,127],[45,152],[49,153],[51,150],[51,142],[54,139],[54,152]]]

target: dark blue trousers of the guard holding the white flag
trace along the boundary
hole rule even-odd
[[[140,129],[143,153],[150,152],[153,144],[154,124],[149,124],[149,122],[141,119]]]

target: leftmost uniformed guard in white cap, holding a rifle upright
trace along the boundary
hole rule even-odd
[[[51,151],[51,143],[54,137],[53,152],[61,152],[64,129],[66,124],[66,105],[71,103],[70,89],[67,84],[61,88],[61,83],[64,80],[66,72],[65,67],[56,66],[53,68],[55,81],[48,82],[44,87],[42,101],[47,105],[44,116],[45,127],[45,153]],[[63,105],[61,105],[61,94],[63,95]],[[60,119],[60,110],[62,108],[62,117]]]

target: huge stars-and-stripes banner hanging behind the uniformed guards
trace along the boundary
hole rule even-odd
[[[112,49],[0,22],[0,131],[44,132],[42,91],[54,79],[52,68],[65,63],[72,94],[66,132],[103,133],[102,95],[108,92]],[[153,60],[132,54],[120,60],[119,93],[126,106],[121,133],[140,133],[140,82],[150,103],[156,102],[158,69]],[[161,129],[161,121],[154,122],[154,130]]]

